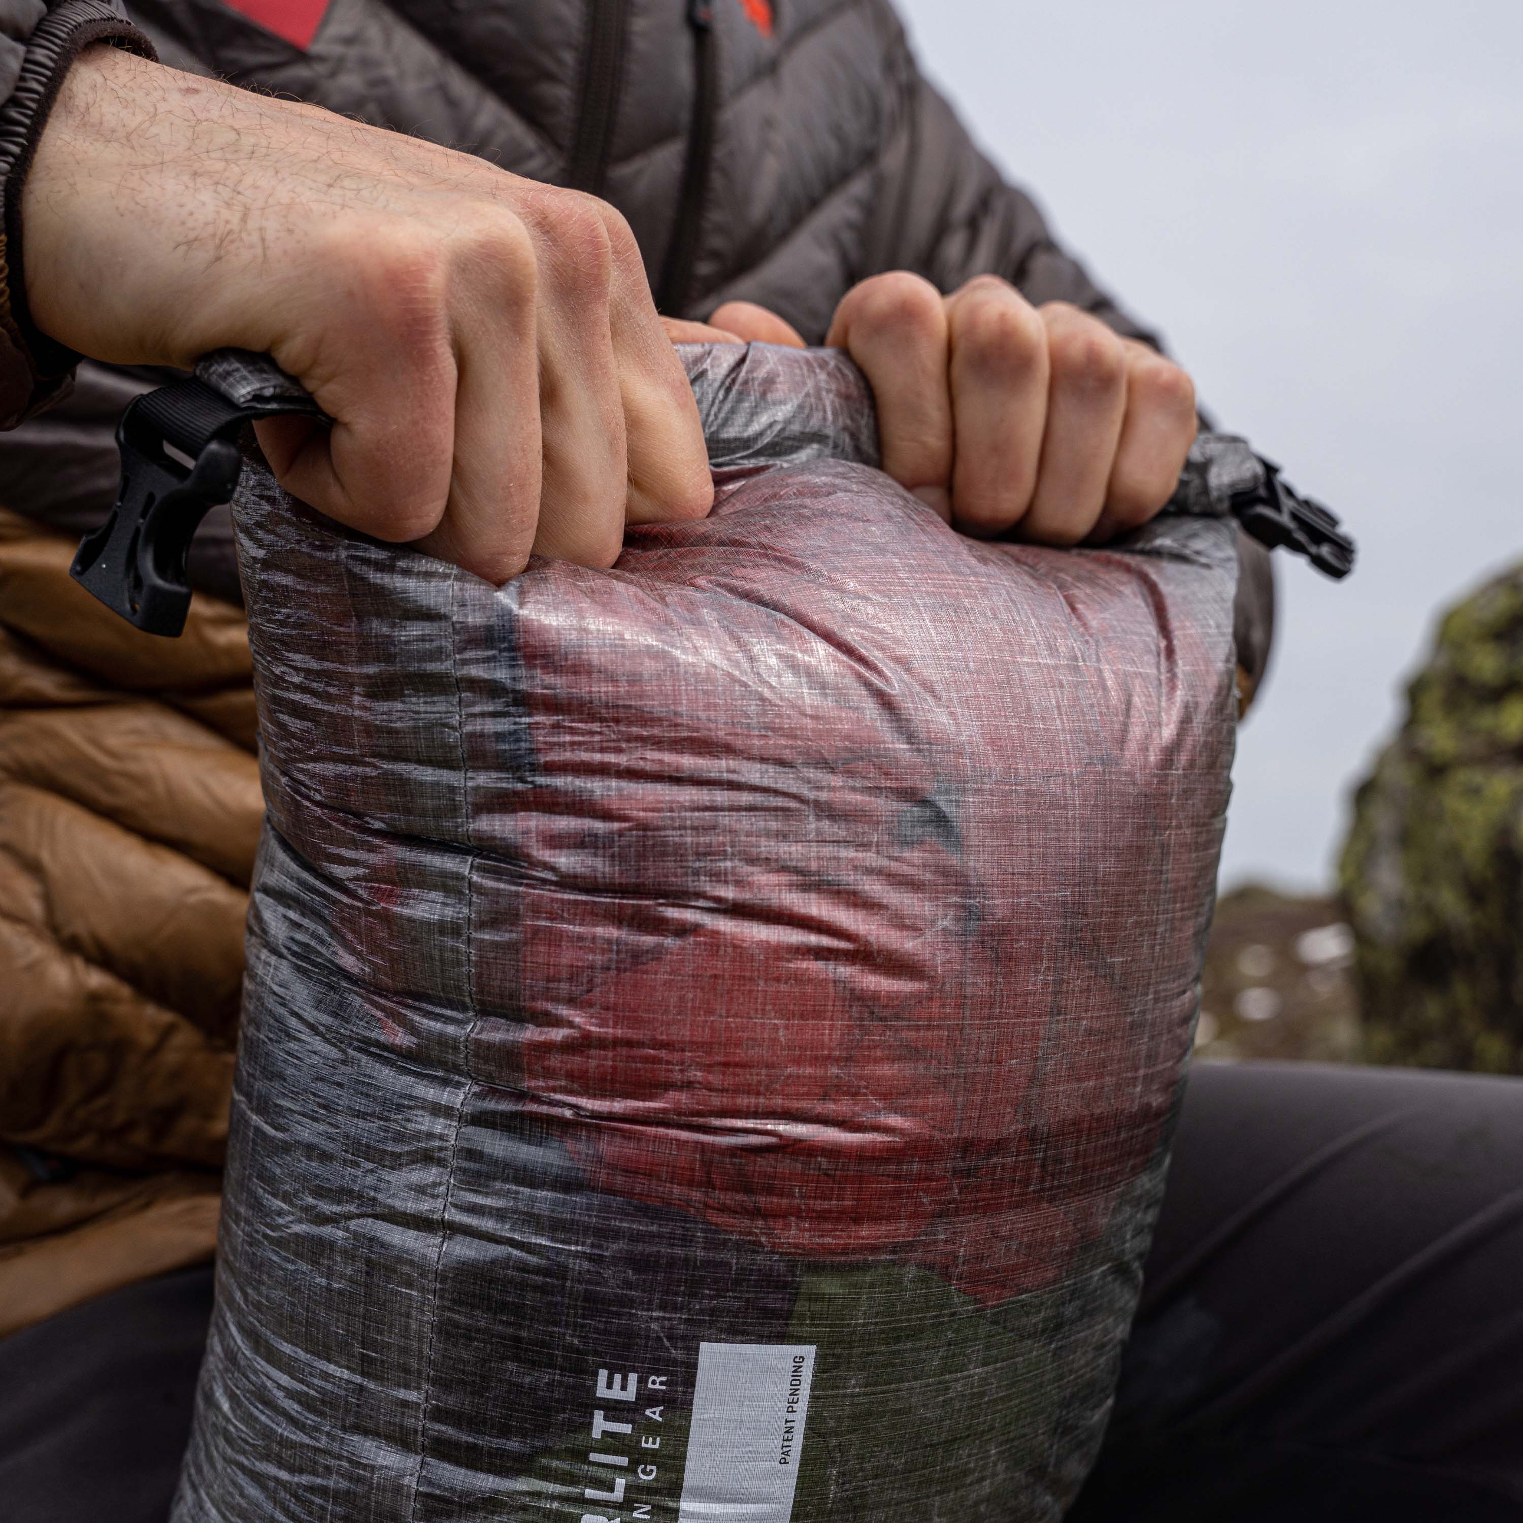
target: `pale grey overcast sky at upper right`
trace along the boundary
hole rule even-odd
[[[1352,527],[1282,559],[1223,882],[1328,882],[1435,614],[1523,557],[1523,0],[900,0],[1221,420]]]

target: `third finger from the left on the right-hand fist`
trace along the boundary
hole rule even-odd
[[[1023,539],[1075,545],[1100,518],[1127,405],[1121,340],[1066,302],[1040,308],[1048,332],[1048,414]]]

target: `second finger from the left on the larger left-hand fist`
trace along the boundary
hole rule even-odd
[[[452,276],[449,498],[416,548],[501,585],[528,564],[541,518],[538,277],[527,233],[516,224],[477,233],[457,248]]]

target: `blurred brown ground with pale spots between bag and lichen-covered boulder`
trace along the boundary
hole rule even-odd
[[[1223,894],[1206,944],[1196,1055],[1359,1062],[1352,952],[1336,900],[1260,885]]]

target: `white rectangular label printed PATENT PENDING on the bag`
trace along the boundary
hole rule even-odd
[[[790,1523],[813,1343],[701,1343],[678,1523]]]

